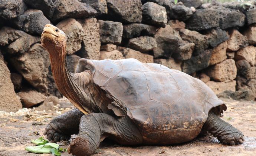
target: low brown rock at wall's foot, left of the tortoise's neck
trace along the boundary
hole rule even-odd
[[[22,101],[22,104],[26,108],[30,108],[34,105],[40,104],[43,101],[45,101],[45,96],[36,90],[26,90],[21,91],[18,93],[18,96],[20,97],[20,101]]]

